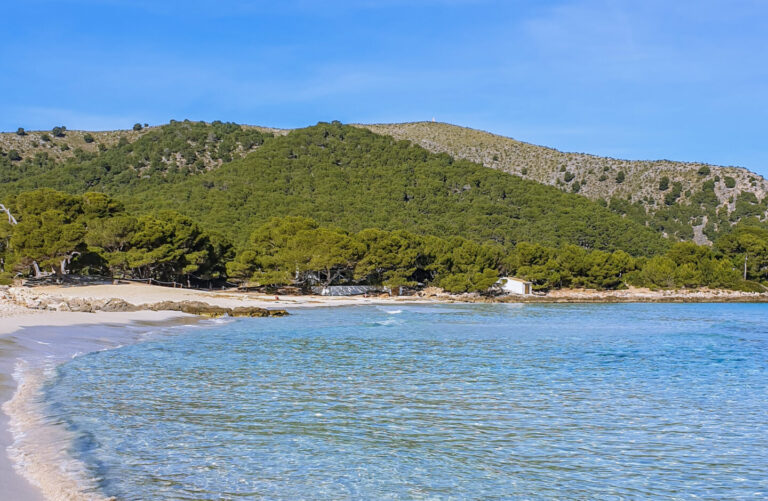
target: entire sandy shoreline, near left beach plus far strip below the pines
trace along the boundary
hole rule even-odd
[[[53,428],[35,415],[44,383],[55,367],[74,356],[139,342],[158,329],[199,323],[201,317],[181,311],[152,311],[149,304],[163,301],[203,302],[221,308],[298,310],[355,305],[407,305],[446,303],[763,303],[768,294],[735,291],[624,291],[561,290],[545,296],[486,298],[476,295],[430,294],[404,297],[284,296],[238,291],[196,291],[143,284],[44,286],[0,289],[0,484],[12,499],[83,499],[86,481],[72,479],[81,471],[76,461],[65,458],[66,436],[25,433]],[[41,299],[43,299],[41,301]],[[138,311],[67,311],[70,305],[118,299],[137,305]],[[58,302],[58,303],[57,303]],[[95,304],[95,303],[94,303]],[[66,306],[64,306],[66,305]],[[53,306],[53,308],[51,307]],[[64,309],[66,308],[66,310]],[[55,430],[54,430],[55,431]],[[66,435],[66,431],[59,429]],[[58,452],[57,452],[58,448]],[[11,457],[13,456],[13,458]],[[47,458],[47,459],[46,459]],[[56,463],[58,461],[58,463]],[[23,463],[23,464],[19,464]],[[66,464],[62,468],[61,464]],[[63,470],[66,470],[65,474]],[[95,485],[95,484],[94,484]],[[92,486],[93,487],[93,486]],[[91,490],[87,499],[103,499]]]

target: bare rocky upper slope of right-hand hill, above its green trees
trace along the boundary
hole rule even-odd
[[[720,167],[670,160],[631,161],[584,153],[564,153],[484,131],[437,122],[359,125],[378,134],[411,141],[423,148],[481,163],[526,179],[577,191],[593,200],[613,197],[641,201],[650,210],[665,204],[665,197],[679,182],[678,202],[700,192],[714,181],[719,206],[734,208],[743,192],[766,198],[768,181],[740,167]],[[623,175],[621,174],[623,173]],[[666,189],[663,178],[668,178]],[[661,185],[661,188],[660,188]]]

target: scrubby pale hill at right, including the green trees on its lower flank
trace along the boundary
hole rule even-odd
[[[707,243],[744,217],[768,213],[768,181],[744,168],[564,153],[436,122],[358,126],[602,201],[683,240]]]

